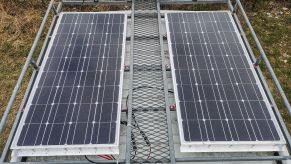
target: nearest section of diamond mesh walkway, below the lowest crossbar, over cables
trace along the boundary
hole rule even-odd
[[[136,152],[131,152],[134,162],[166,163],[169,162],[169,143],[167,132],[167,116],[162,111],[134,112],[136,124],[145,133],[150,147],[145,142],[140,130],[133,126]]]

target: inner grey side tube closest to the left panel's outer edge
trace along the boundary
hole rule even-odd
[[[59,5],[58,5],[58,7],[57,7],[57,11],[60,11],[61,8],[62,8],[62,2],[59,3]],[[44,53],[44,52],[45,52],[45,49],[46,49],[47,44],[48,44],[48,42],[49,42],[49,34],[50,34],[51,31],[53,31],[53,29],[54,29],[56,19],[57,19],[57,16],[54,16],[54,18],[53,18],[53,20],[52,20],[52,24],[51,24],[51,26],[50,26],[50,28],[49,28],[49,30],[48,30],[48,35],[47,35],[47,37],[46,37],[46,39],[45,39],[45,41],[44,41],[44,44],[43,44],[43,47],[42,47],[42,49],[41,49],[40,55],[39,55],[39,57],[38,57],[38,59],[37,59],[37,61],[36,61],[36,65],[39,65],[39,64],[42,62],[42,58],[43,58],[43,56],[44,56],[44,54],[45,54],[45,53]],[[30,78],[30,81],[29,81],[28,87],[27,87],[27,89],[26,89],[26,91],[25,91],[24,97],[23,97],[22,102],[21,102],[20,107],[19,107],[19,111],[17,112],[17,115],[16,115],[16,117],[15,117],[15,120],[14,120],[13,126],[12,126],[11,131],[10,131],[10,134],[9,134],[9,137],[8,137],[8,139],[7,139],[7,141],[6,141],[6,144],[5,144],[5,147],[4,147],[3,151],[2,151],[1,159],[0,159],[0,163],[4,162],[5,159],[6,159],[6,157],[7,157],[7,152],[8,152],[8,150],[9,150],[9,147],[10,147],[11,143],[12,143],[13,136],[14,136],[14,134],[15,134],[15,132],[16,132],[16,128],[17,128],[18,123],[19,123],[19,121],[20,121],[20,118],[21,118],[21,116],[22,116],[22,111],[21,111],[21,110],[24,108],[24,105],[25,105],[26,102],[27,102],[28,95],[30,94],[30,91],[31,91],[32,86],[33,86],[33,84],[34,84],[34,80],[35,80],[35,78],[36,78],[36,75],[37,75],[37,70],[33,71],[33,74],[32,74],[32,76],[31,76],[31,78]]]

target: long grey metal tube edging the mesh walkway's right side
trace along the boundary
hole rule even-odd
[[[171,111],[169,108],[168,100],[168,82],[165,68],[165,52],[164,52],[164,43],[163,43],[163,34],[162,34],[162,24],[161,24],[161,12],[160,12],[160,1],[157,0],[157,10],[158,10],[158,23],[159,23],[159,34],[160,34],[160,47],[161,47],[161,57],[162,57],[162,69],[163,69],[163,80],[164,80],[164,95],[165,95],[165,105],[167,113],[167,127],[168,127],[168,138],[169,138],[169,148],[170,148],[170,162],[175,163],[175,148],[173,141],[173,132],[171,124]]]

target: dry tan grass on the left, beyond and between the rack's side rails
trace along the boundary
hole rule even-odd
[[[36,0],[0,1],[0,117],[2,117],[24,65],[25,57],[38,31],[45,8],[46,4]],[[16,105],[9,115],[6,128],[0,136],[0,151],[2,151],[9,135],[18,109],[17,104],[21,102],[28,79],[29,73],[20,89]]]

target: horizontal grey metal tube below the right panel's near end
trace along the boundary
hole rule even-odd
[[[291,159],[291,156],[193,157],[193,158],[176,158],[176,162],[282,161],[282,160],[289,160],[289,159]]]

